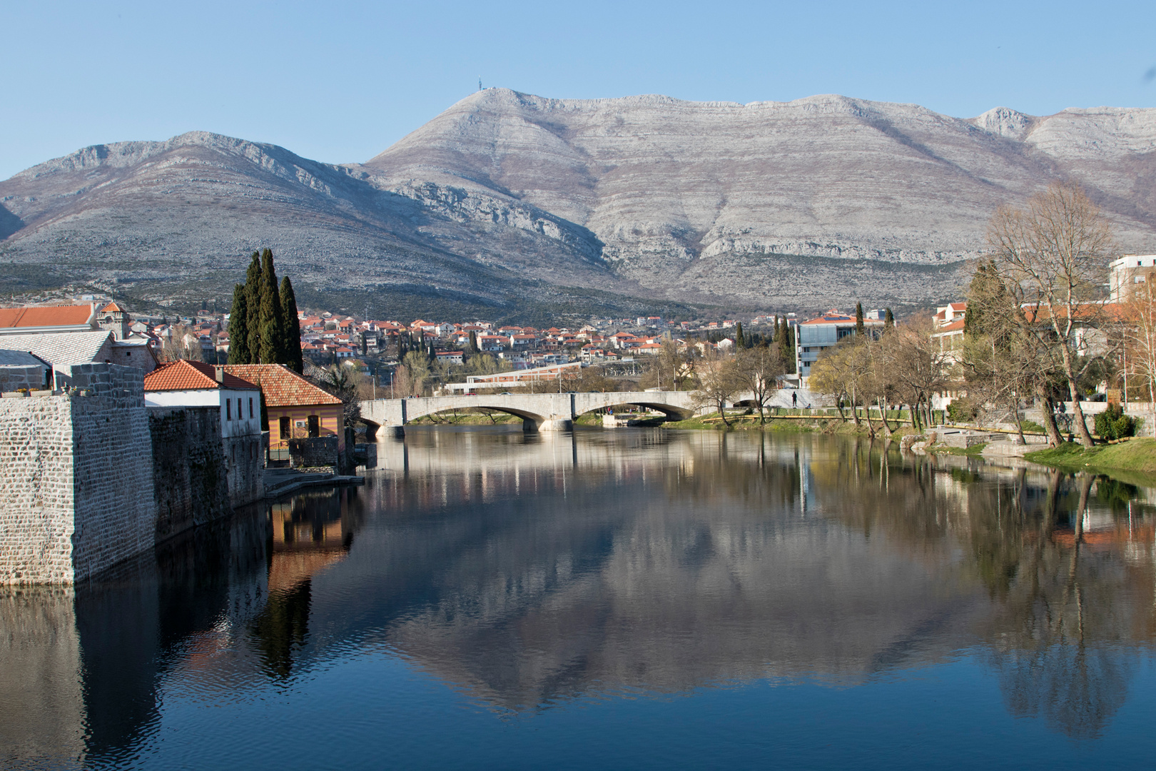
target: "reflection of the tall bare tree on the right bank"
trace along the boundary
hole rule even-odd
[[[1014,569],[1003,571],[1014,578],[1001,587],[990,661],[1013,714],[1042,714],[1074,739],[1098,736],[1124,705],[1136,654],[1120,643],[1139,642],[1129,639],[1131,630],[1151,608],[1150,594],[1147,608],[1128,602],[1136,596],[1129,591],[1136,577],[1111,548],[1120,544],[1087,543],[1094,481],[1089,474],[1064,480],[1052,472],[1038,505],[1025,510],[1015,496],[998,511],[1021,549]],[[1120,487],[1106,487],[1109,497],[1119,496]]]

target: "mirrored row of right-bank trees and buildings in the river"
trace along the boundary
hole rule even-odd
[[[869,448],[874,462],[864,464],[859,452],[828,469],[836,487],[824,489],[859,481],[839,516],[920,550],[964,544],[994,603],[980,633],[1008,710],[1042,716],[1075,739],[1099,735],[1127,698],[1135,644],[1150,642],[1154,624],[1150,555],[1124,554],[1150,549],[1151,519],[1105,522],[1129,511],[1136,489],[1089,474],[936,469],[942,459],[897,457],[883,468],[887,484],[864,484],[880,453]],[[1085,532],[1091,507],[1101,526]]]

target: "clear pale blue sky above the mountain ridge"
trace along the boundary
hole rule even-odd
[[[477,88],[1156,106],[1156,2],[0,0],[0,179],[207,129],[366,161]]]

